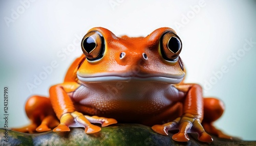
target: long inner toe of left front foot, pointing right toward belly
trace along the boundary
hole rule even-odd
[[[117,124],[117,120],[114,118],[105,118],[105,117],[98,117],[98,116],[88,116],[85,115],[91,123],[99,123],[102,127],[106,127],[112,124]]]

